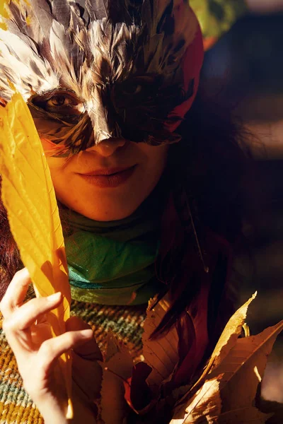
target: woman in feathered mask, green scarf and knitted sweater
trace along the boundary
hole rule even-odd
[[[73,378],[88,394],[75,399],[75,418],[83,409],[91,423],[91,360],[101,354],[85,321],[103,346],[98,326],[105,330],[112,314],[137,356],[147,302],[167,293],[170,308],[153,336],[178,328],[192,376],[233,312],[240,131],[202,90],[196,98],[202,35],[183,0],[12,0],[0,43],[1,98],[10,100],[13,83],[33,115],[62,214],[72,307],[84,319],[72,317],[65,334],[49,338],[45,312],[62,297],[24,302],[30,278],[18,271],[1,206],[3,327],[45,423],[66,422],[52,370],[73,348]],[[175,384],[185,382],[179,373]]]

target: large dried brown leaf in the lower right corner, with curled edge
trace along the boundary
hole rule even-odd
[[[253,404],[267,356],[282,329],[283,321],[257,336],[238,339],[219,366],[209,372],[209,379],[197,394],[183,403],[183,410],[180,404],[175,408],[171,424],[265,423],[270,414],[260,412]],[[202,421],[204,417],[206,421]]]

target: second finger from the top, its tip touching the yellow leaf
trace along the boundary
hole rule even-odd
[[[4,331],[23,331],[28,329],[42,314],[54,310],[62,302],[62,293],[54,293],[47,298],[35,298],[26,302],[13,312],[10,319],[4,317]]]

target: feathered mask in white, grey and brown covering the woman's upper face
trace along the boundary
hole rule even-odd
[[[112,137],[175,143],[197,93],[202,35],[183,0],[6,0],[0,95],[23,95],[47,154]]]

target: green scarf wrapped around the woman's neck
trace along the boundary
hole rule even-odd
[[[110,222],[68,212],[64,237],[73,299],[140,305],[160,290],[154,262],[161,205],[152,194],[131,216]]]

